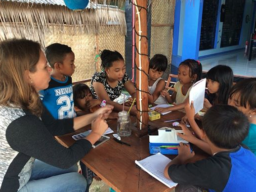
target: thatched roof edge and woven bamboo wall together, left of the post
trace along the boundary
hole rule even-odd
[[[72,11],[66,6],[0,1],[0,40],[27,38],[43,48],[67,44],[75,53],[73,81],[100,70],[99,50],[119,51],[125,57],[125,12],[116,8]]]

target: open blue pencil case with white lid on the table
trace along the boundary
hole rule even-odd
[[[149,136],[149,153],[150,154],[178,154],[176,146],[179,143],[188,143],[177,136],[177,133],[183,133],[182,130],[175,130],[170,127],[158,129],[158,135]]]

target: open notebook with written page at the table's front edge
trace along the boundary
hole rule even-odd
[[[164,175],[165,167],[169,162],[171,162],[171,159],[160,153],[148,156],[140,161],[135,160],[135,163],[144,171],[169,188],[172,188],[175,187],[177,183],[167,179]]]

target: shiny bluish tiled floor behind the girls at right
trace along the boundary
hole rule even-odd
[[[235,76],[256,77],[256,51],[254,51],[251,61],[244,56],[244,50],[240,50],[202,58],[200,62],[203,65],[203,71],[209,71],[216,65],[227,65],[231,67]]]

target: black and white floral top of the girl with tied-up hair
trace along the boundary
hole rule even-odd
[[[108,96],[111,101],[114,99],[118,98],[121,95],[121,90],[124,87],[124,84],[129,80],[128,74],[125,73],[124,77],[122,80],[118,81],[117,86],[115,88],[111,87],[108,84],[107,78],[106,78],[106,72],[96,72],[92,77],[91,77],[91,82],[90,82],[90,91],[93,95],[94,98],[98,99],[98,96],[94,90],[94,87],[92,85],[92,82],[100,82],[104,85],[106,92],[108,93]]]

